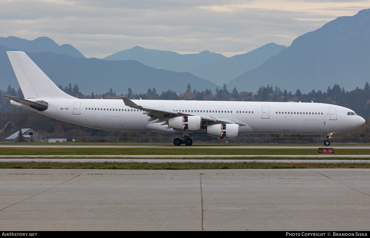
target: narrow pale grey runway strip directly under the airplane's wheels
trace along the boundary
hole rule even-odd
[[[51,144],[51,143],[50,143]],[[184,148],[185,145],[182,146],[152,146],[152,145],[140,145],[140,146],[130,146],[130,145],[0,145],[0,148]],[[223,146],[189,146],[189,148],[205,148],[205,149],[319,149],[325,148],[324,145],[318,146],[230,146],[230,145],[223,145]],[[327,146],[327,148],[334,148],[334,149],[370,149],[370,146]]]

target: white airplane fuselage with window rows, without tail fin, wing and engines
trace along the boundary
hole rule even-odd
[[[40,112],[12,101],[13,105],[34,110],[51,118],[90,128],[115,131],[158,131],[179,134],[181,129],[155,130],[143,111],[125,106],[118,99],[58,99],[44,100],[48,109]],[[269,134],[326,134],[354,129],[364,123],[353,110],[324,103],[301,102],[228,102],[228,101],[173,101],[132,100],[138,105],[181,110],[192,115],[238,119],[248,126],[240,126],[239,135],[248,133]],[[351,114],[351,113],[350,113]],[[157,123],[158,124],[158,123]],[[253,130],[251,130],[252,128]],[[207,134],[205,129],[190,134]]]

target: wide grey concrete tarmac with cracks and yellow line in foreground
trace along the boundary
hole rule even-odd
[[[363,231],[369,169],[0,169],[0,229]]]

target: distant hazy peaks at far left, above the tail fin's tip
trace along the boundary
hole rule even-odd
[[[38,37],[35,40],[26,40],[19,37],[0,37],[0,45],[27,52],[53,52],[76,58],[85,58],[80,51],[70,44],[58,45],[48,37]]]

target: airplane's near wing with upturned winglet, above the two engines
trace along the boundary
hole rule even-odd
[[[168,110],[168,109],[163,109],[163,108],[153,108],[149,106],[140,106],[137,105],[136,103],[132,102],[130,99],[127,97],[122,97],[123,102],[125,103],[126,106],[129,106],[130,108],[135,108],[139,110],[145,111],[143,114],[147,114],[150,116],[148,119],[148,122],[152,120],[157,120],[157,122],[164,122],[167,118],[173,118],[176,116],[200,116],[202,118],[202,121],[208,121],[208,122],[215,122],[215,123],[231,123],[231,124],[238,124],[240,126],[246,126],[246,124],[238,119],[233,119],[233,118],[215,118],[213,116],[205,116],[201,114],[196,114],[196,113],[188,113],[188,112],[178,112],[175,110]],[[212,124],[212,123],[211,123]],[[209,124],[209,125],[211,125]]]

